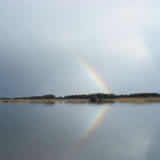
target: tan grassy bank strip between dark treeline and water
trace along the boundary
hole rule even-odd
[[[160,103],[160,97],[0,99],[0,103]]]

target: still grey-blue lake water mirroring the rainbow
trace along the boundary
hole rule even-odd
[[[160,159],[160,104],[0,104],[0,159]]]

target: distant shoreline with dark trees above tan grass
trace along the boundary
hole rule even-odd
[[[43,95],[32,97],[0,98],[0,103],[160,103],[159,93],[116,94],[79,94],[64,97]]]

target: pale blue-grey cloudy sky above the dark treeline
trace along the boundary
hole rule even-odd
[[[157,0],[1,0],[0,96],[160,92]],[[81,58],[79,58],[81,57]]]

